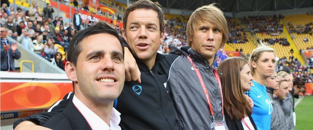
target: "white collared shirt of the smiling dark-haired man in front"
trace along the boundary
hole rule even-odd
[[[83,102],[81,102],[75,95],[73,97],[73,103],[78,111],[80,111],[80,113],[85,117],[91,129],[121,129],[121,127],[118,126],[120,122],[120,112],[118,112],[114,107],[112,109],[109,126],[96,113],[94,113]]]

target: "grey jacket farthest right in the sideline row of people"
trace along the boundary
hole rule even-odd
[[[294,125],[293,125],[293,96],[291,92],[287,94],[286,98],[283,100],[283,105],[282,105],[282,110],[285,113],[285,117],[287,118],[287,125],[288,129],[293,130]]]

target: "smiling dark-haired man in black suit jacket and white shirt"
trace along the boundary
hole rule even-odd
[[[121,129],[120,113],[113,108],[113,101],[122,91],[125,79],[122,43],[122,37],[104,22],[80,31],[71,40],[65,72],[74,82],[75,95],[63,112],[43,126]]]

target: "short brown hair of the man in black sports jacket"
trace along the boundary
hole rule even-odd
[[[150,0],[138,0],[138,1],[134,2],[133,4],[131,4],[129,7],[127,7],[127,9],[125,10],[125,13],[124,13],[124,17],[123,17],[124,29],[126,29],[127,18],[128,18],[129,13],[135,9],[141,9],[141,8],[152,9],[152,10],[158,12],[159,22],[160,22],[160,32],[162,33],[164,31],[165,24],[166,24],[164,12],[163,12],[159,2],[152,2]]]

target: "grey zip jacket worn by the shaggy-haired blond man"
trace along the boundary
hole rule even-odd
[[[171,48],[179,54],[170,68],[168,83],[170,93],[178,112],[180,129],[211,129],[212,114],[196,71],[185,56],[189,54],[199,68],[210,96],[215,120],[222,120],[222,96],[220,87],[213,74],[213,65],[209,65],[201,55],[190,47]]]

